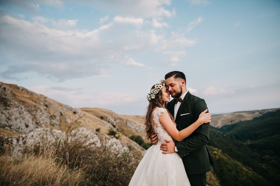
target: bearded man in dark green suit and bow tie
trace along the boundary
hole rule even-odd
[[[199,114],[207,108],[205,101],[189,93],[186,89],[186,77],[183,72],[172,71],[165,75],[166,86],[174,98],[167,104],[167,109],[173,115],[178,131],[194,123]],[[208,111],[207,111],[208,112]],[[191,135],[180,142],[166,140],[161,144],[162,153],[178,152],[183,160],[191,186],[205,186],[206,172],[211,170],[212,158],[207,147],[209,140],[210,123],[199,126]],[[150,140],[157,143],[157,136],[152,135]]]

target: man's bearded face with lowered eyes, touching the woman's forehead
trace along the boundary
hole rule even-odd
[[[181,79],[175,79],[173,76],[166,79],[166,86],[173,98],[179,98],[182,95],[183,89],[181,85]]]

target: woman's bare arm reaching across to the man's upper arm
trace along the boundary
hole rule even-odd
[[[163,112],[159,116],[159,121],[161,122],[162,126],[164,126],[165,130],[168,132],[168,134],[175,139],[175,141],[182,141],[186,137],[188,137],[191,133],[195,131],[200,125],[203,123],[209,122],[211,119],[211,114],[206,113],[207,109],[204,110],[198,117],[198,120],[188,126],[187,128],[178,131],[174,123],[172,122],[171,118],[169,117],[169,114],[166,112]]]

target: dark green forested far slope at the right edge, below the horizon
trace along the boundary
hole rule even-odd
[[[231,138],[246,143],[260,154],[280,157],[280,109],[251,121],[240,122],[219,129]]]

